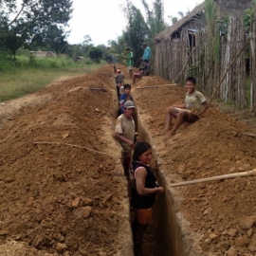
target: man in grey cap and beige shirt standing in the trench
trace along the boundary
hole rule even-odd
[[[124,174],[129,176],[132,150],[135,147],[135,121],[133,113],[135,104],[133,101],[124,103],[124,114],[121,114],[116,122],[115,137],[119,139],[123,149],[123,169]]]

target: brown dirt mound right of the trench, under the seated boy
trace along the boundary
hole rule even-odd
[[[142,79],[136,87],[168,83],[153,80]],[[256,138],[246,135],[256,134],[255,129],[212,105],[199,121],[185,123],[174,137],[158,136],[166,107],[184,96],[183,86],[136,89],[137,111],[153,135],[165,178],[174,183],[255,169]],[[255,177],[246,177],[173,189],[183,197],[179,210],[190,229],[200,234],[198,243],[205,255],[228,251],[228,255],[255,255],[254,186]]]

